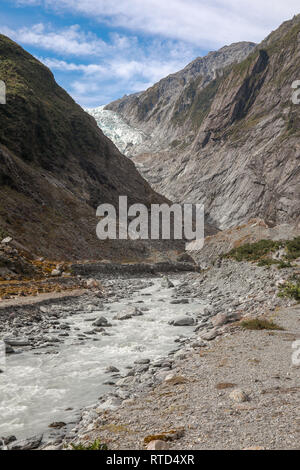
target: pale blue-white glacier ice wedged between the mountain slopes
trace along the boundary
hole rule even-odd
[[[143,131],[127,124],[118,113],[104,108],[105,106],[99,106],[85,111],[95,118],[103,134],[113,141],[121,153],[132,157],[136,148],[143,145],[149,137]]]

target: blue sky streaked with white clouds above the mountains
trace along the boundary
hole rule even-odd
[[[259,42],[299,12],[299,0],[1,0],[0,33],[96,107],[225,44]]]

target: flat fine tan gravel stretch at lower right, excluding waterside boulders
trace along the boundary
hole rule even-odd
[[[292,344],[300,340],[300,306],[272,318],[284,331],[231,328],[176,362],[172,373],[186,383],[163,382],[100,413],[86,439],[100,438],[110,449],[143,449],[146,436],[184,428],[171,449],[299,449],[300,366],[292,363]],[[249,401],[231,399],[234,389]]]

